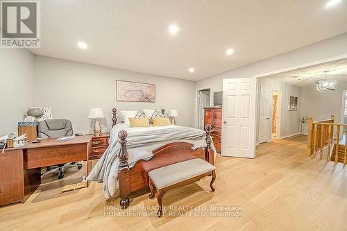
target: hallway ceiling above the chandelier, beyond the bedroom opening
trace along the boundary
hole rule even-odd
[[[310,87],[316,85],[317,79],[325,79],[325,71],[328,71],[328,79],[337,80],[337,83],[347,82],[347,60],[328,62],[315,67],[266,76],[266,78],[273,78],[298,87]]]

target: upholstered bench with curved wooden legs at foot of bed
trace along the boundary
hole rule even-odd
[[[162,197],[169,189],[189,185],[204,176],[212,176],[210,187],[214,191],[213,182],[216,180],[215,169],[212,164],[205,160],[192,159],[150,171],[149,188],[151,189],[151,194],[149,198],[155,197],[156,189],[159,204],[158,216],[162,216]]]

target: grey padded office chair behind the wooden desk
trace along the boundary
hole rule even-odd
[[[59,138],[59,137],[68,137],[74,134],[72,130],[71,121],[68,119],[46,119],[40,121],[38,126],[39,137],[43,139],[49,138]],[[76,136],[81,134],[76,134]],[[57,164],[59,168],[58,179],[64,178],[64,169],[67,163]],[[71,165],[75,165],[75,162],[72,162]],[[75,165],[76,166],[76,165]],[[78,169],[82,168],[82,164],[77,164]],[[47,166],[49,170],[51,166]]]

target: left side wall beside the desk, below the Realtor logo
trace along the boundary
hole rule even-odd
[[[17,133],[17,123],[33,103],[34,55],[26,49],[0,49],[0,137]]]

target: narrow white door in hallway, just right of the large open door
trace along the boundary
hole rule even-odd
[[[271,89],[269,87],[260,86],[260,102],[259,102],[259,132],[258,142],[264,143],[269,141],[270,134],[270,113],[271,113]]]

